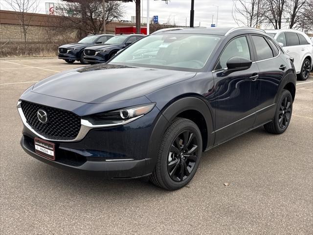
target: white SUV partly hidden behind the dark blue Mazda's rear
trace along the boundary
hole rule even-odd
[[[293,29],[265,30],[294,58],[299,80],[307,80],[313,65],[313,42],[305,33]]]

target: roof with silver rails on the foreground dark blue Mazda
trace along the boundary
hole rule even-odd
[[[225,36],[228,35],[234,31],[240,30],[240,29],[246,29],[251,31],[258,31],[265,33],[262,29],[252,28],[252,27],[194,27],[194,28],[163,28],[160,30],[157,30],[156,32],[152,34],[157,33],[194,33],[194,34],[213,34],[213,35],[221,35]]]

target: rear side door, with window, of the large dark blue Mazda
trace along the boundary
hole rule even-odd
[[[286,69],[286,62],[279,55],[283,53],[274,42],[261,35],[251,35],[256,65],[259,68],[259,78],[253,83],[255,91],[256,120],[255,125],[261,125],[274,117],[275,98],[278,86]]]

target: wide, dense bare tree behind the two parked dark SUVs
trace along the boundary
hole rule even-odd
[[[103,30],[103,1],[102,0],[75,0],[66,3],[67,12],[60,15],[66,18],[67,27],[81,31],[82,36],[88,33],[99,33]],[[68,13],[70,16],[68,16]],[[124,15],[123,3],[109,1],[105,3],[105,22],[119,20]]]

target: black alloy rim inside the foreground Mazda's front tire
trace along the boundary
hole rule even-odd
[[[185,180],[198,160],[198,143],[191,130],[181,132],[172,142],[168,153],[167,170],[172,180]]]

